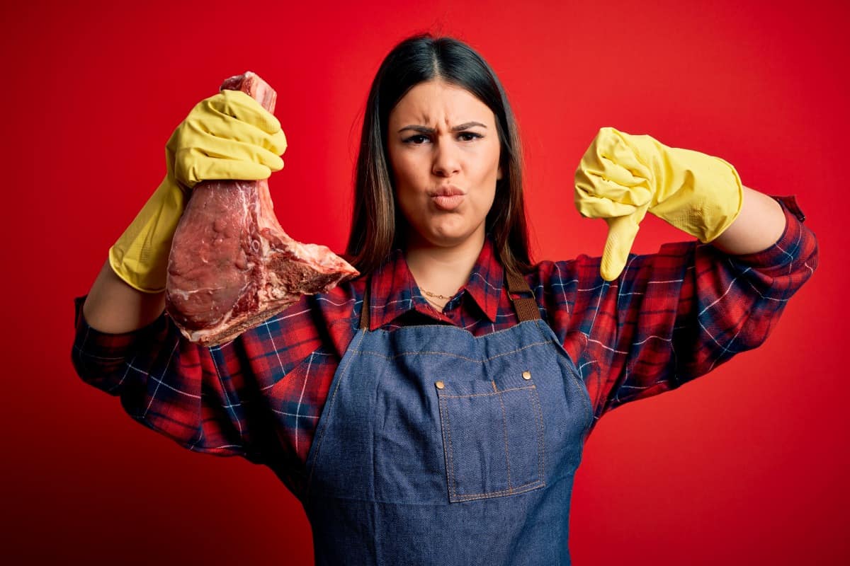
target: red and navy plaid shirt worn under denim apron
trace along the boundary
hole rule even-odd
[[[793,197],[778,198],[786,227],[750,255],[710,244],[662,245],[632,255],[621,277],[599,258],[541,261],[525,275],[590,392],[595,418],[673,389],[768,337],[787,300],[818,263],[814,234]],[[433,309],[401,250],[371,279],[371,329],[453,324],[475,336],[518,322],[503,271],[485,242],[467,285]],[[296,495],[331,378],[360,321],[365,277],[305,295],[228,344],[183,339],[166,316],[133,333],[100,333],[82,317],[72,358],[82,379],[120,395],[127,413],[192,451],[240,455],[275,471]]]

